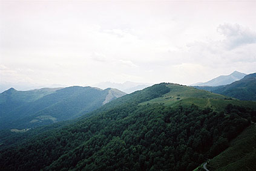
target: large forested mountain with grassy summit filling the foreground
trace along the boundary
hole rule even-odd
[[[0,166],[2,170],[193,170],[225,151],[254,124],[255,108],[256,102],[160,83],[116,98],[70,124],[39,134],[36,129],[11,133],[9,143],[30,136],[10,147],[0,139]]]

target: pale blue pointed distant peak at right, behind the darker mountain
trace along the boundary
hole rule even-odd
[[[237,80],[243,79],[246,74],[239,73],[238,71],[234,71],[233,73],[229,74],[228,76],[218,76],[215,79],[209,80],[205,83],[195,83],[192,86],[220,86],[220,85],[228,85],[232,82]]]

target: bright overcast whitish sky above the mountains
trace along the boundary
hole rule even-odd
[[[256,72],[256,1],[0,1],[0,83],[206,82]]]

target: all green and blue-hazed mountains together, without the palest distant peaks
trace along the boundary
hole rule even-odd
[[[256,170],[255,80],[131,94],[10,88],[0,94],[0,170]]]

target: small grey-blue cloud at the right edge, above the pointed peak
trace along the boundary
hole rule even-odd
[[[222,24],[218,26],[217,31],[226,37],[223,43],[229,50],[256,43],[256,32],[239,24]]]

